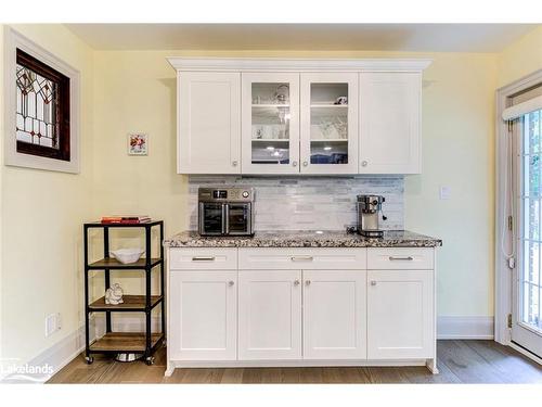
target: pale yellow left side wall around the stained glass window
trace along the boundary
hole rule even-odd
[[[82,96],[79,175],[3,163],[0,168],[1,352],[26,363],[80,327],[81,222],[89,220],[92,206],[93,61],[92,50],[62,25],[13,27],[79,69]],[[57,311],[62,330],[46,339],[44,318]]]

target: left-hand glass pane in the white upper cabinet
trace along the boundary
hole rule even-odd
[[[254,82],[253,164],[289,164],[289,85]]]

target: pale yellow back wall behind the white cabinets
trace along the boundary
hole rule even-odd
[[[405,182],[405,225],[444,241],[438,311],[493,315],[493,100],[496,55],[376,52],[95,52],[95,215],[145,213],[184,225],[186,178],[176,175],[175,71],[166,56],[431,58],[424,74],[423,175]],[[126,135],[150,135],[150,155],[130,157]],[[439,201],[438,188],[452,188]],[[127,282],[127,284],[130,284]],[[129,287],[129,285],[127,285]]]

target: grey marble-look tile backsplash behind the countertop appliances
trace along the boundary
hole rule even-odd
[[[340,230],[356,225],[356,195],[386,198],[380,226],[404,229],[403,177],[189,177],[189,225],[197,229],[197,189],[247,185],[256,188],[255,230]]]

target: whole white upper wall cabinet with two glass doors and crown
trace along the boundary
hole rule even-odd
[[[169,59],[179,174],[418,174],[428,60]]]

